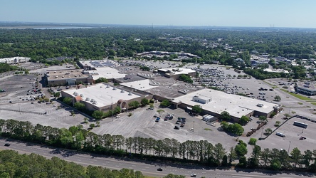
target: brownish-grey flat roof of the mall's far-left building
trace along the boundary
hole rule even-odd
[[[63,78],[88,78],[89,74],[83,74],[82,69],[47,70],[48,80],[60,80]]]

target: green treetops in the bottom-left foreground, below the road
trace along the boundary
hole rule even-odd
[[[130,177],[144,178],[142,172],[133,169],[110,170],[104,167],[83,167],[58,157],[46,157],[31,153],[19,155],[14,150],[0,152],[0,177]]]

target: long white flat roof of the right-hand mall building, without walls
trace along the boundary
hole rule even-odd
[[[206,104],[198,103],[192,100],[195,95],[207,96],[211,98],[211,102]],[[196,92],[188,93],[186,95],[174,98],[173,101],[176,103],[181,102],[192,106],[201,105],[204,110],[209,110],[218,114],[221,114],[221,112],[223,111],[227,111],[230,115],[239,118],[243,115],[248,115],[253,110],[263,113],[269,113],[274,110],[273,107],[276,105],[274,103],[268,103],[263,100],[256,100],[240,95],[231,95],[211,89],[203,89]],[[263,107],[258,107],[258,104],[262,104]]]

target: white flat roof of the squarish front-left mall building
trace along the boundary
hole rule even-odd
[[[105,83],[98,83],[96,85],[90,85],[87,88],[63,90],[63,92],[73,96],[75,96],[75,92],[78,93],[78,95],[82,94],[83,96],[81,98],[83,101],[85,101],[87,98],[90,100],[93,99],[97,102],[93,105],[97,106],[98,108],[111,105],[112,101],[113,104],[115,104],[118,102],[118,100],[132,100],[140,97],[140,95],[136,95],[135,93],[129,95],[130,92],[127,90],[122,90],[120,88],[116,88],[116,90],[114,90],[114,88],[115,87]]]

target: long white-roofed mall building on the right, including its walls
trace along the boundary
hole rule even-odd
[[[234,121],[243,115],[251,117],[263,115],[270,117],[273,112],[282,110],[280,105],[240,95],[231,95],[218,90],[203,89],[174,98],[171,100],[174,108],[191,109],[194,105],[201,105],[205,114],[220,117],[221,112],[228,112]]]

